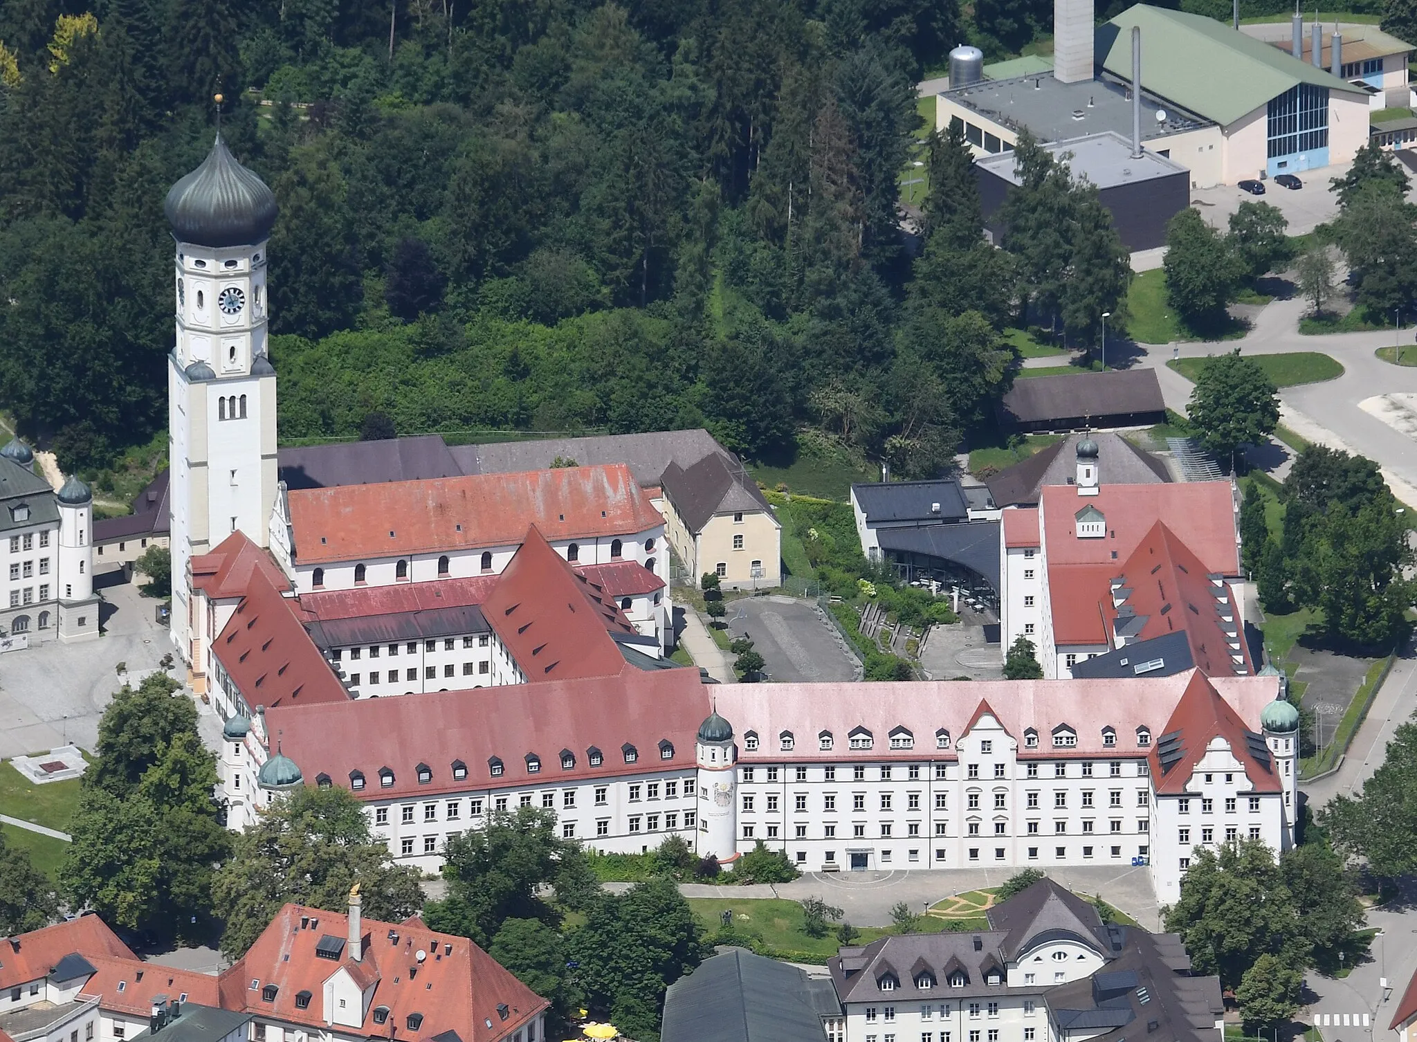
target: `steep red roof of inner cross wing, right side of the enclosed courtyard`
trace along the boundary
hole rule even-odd
[[[614,598],[571,571],[536,527],[519,533],[517,542],[521,546],[482,614],[521,672],[529,680],[618,673],[625,658],[605,631],[636,629]]]

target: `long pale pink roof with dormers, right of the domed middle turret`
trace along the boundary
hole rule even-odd
[[[1166,733],[1168,720],[1195,678],[1202,688],[1209,685],[1220,692],[1234,706],[1236,719],[1248,720],[1255,729],[1260,726],[1260,710],[1278,692],[1277,676],[1217,678],[1212,683],[1196,671],[1175,676],[1088,680],[726,683],[713,690],[718,713],[733,723],[740,741],[738,756],[744,763],[781,763],[782,732],[792,733],[792,756],[798,760],[859,760],[862,754],[853,753],[849,746],[849,734],[856,727],[871,732],[871,757],[877,760],[918,761],[922,754],[952,757],[954,740],[969,730],[982,712],[992,713],[1017,739],[1020,757],[1100,758],[1146,754],[1149,746],[1138,744],[1136,729],[1146,727],[1155,744]],[[1076,746],[1053,746],[1053,729],[1058,724],[1074,730]],[[890,747],[890,732],[896,727],[911,732],[914,749]],[[1036,749],[1029,749],[1024,741],[1024,732],[1030,727],[1039,734]],[[1105,727],[1117,736],[1114,746],[1104,741]],[[951,736],[948,751],[935,747],[935,732],[941,729]],[[758,734],[755,751],[750,751],[743,741],[750,730]],[[833,747],[829,751],[818,747],[822,730],[832,732]]]

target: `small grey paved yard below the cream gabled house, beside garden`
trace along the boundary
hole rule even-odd
[[[837,632],[808,601],[791,597],[740,597],[728,601],[728,632],[752,639],[767,662],[768,678],[786,683],[852,680],[856,662],[842,649]]]

